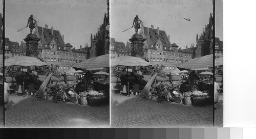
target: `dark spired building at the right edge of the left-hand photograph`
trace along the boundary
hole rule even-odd
[[[91,34],[90,58],[110,52],[110,31],[107,27],[110,24],[109,0],[106,2],[108,12],[104,14],[103,23],[99,25],[98,32],[95,35]]]

